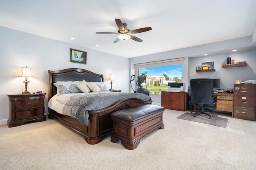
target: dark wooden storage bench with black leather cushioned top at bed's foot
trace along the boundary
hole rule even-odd
[[[121,140],[126,149],[136,149],[141,138],[158,128],[164,129],[164,110],[164,107],[157,105],[142,105],[112,113],[111,142]]]

